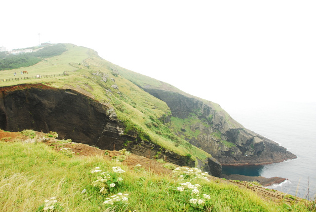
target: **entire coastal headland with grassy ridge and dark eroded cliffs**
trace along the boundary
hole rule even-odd
[[[221,164],[262,165],[296,158],[241,126],[214,102],[119,67],[92,49],[65,47],[66,52],[29,71],[45,75],[45,67],[58,60],[54,68],[67,75],[30,79],[34,84],[3,82],[13,86],[0,87],[0,128],[56,131],[60,139],[100,149],[126,148],[214,176],[220,175]]]

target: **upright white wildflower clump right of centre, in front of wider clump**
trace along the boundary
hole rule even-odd
[[[191,182],[180,183],[181,186],[177,187],[177,191],[180,191],[184,196],[187,204],[190,204],[193,208],[200,208],[202,209],[205,202],[211,197],[208,194],[203,194],[203,197],[200,197],[200,191],[198,190],[201,187],[199,184],[191,184]],[[189,200],[189,201],[188,201]],[[186,204],[183,202],[182,204]]]

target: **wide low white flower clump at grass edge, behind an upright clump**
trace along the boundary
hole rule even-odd
[[[203,179],[209,181],[207,178],[208,172],[202,172],[197,168],[178,167],[172,171],[173,176],[177,176],[184,179]]]

